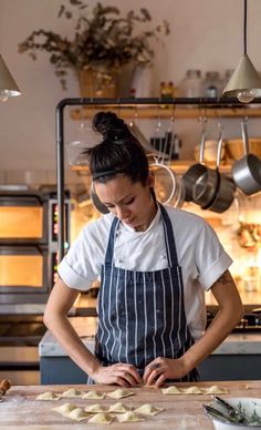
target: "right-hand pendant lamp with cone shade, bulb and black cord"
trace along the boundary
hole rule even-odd
[[[243,55],[222,94],[228,98],[238,98],[242,103],[250,103],[254,98],[261,96],[261,78],[247,53],[248,0],[243,0]]]

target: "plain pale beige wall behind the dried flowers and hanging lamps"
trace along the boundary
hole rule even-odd
[[[0,52],[23,94],[0,104],[0,182],[8,181],[9,171],[55,170],[55,106],[61,99],[79,96],[73,76],[69,90],[62,91],[54,69],[45,53],[33,62],[28,54],[18,53],[18,43],[33,30],[43,28],[71,34],[71,21],[56,18],[61,0],[0,0]],[[64,3],[66,0],[64,0]],[[93,4],[94,1],[88,1]],[[233,69],[242,53],[243,0],[103,0],[103,4],[118,6],[123,11],[146,7],[155,23],[166,18],[171,34],[165,47],[156,45],[154,88],[157,95],[161,80],[176,84],[187,69]],[[92,6],[91,6],[92,7]],[[249,1],[249,55],[261,71],[260,55],[261,1]],[[66,115],[69,135],[76,124]],[[199,129],[180,122],[178,131],[184,140],[197,143]],[[237,135],[239,123],[227,122],[228,133]],[[252,126],[261,133],[260,122]],[[260,133],[259,133],[260,129]],[[189,130],[189,132],[187,131]],[[196,133],[196,136],[195,136]],[[19,178],[20,176],[18,176]],[[43,182],[45,181],[45,176]]]

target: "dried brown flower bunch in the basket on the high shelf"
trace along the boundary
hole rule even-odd
[[[85,70],[109,68],[118,70],[122,65],[135,61],[149,63],[154,50],[149,40],[161,33],[169,33],[167,21],[153,30],[140,30],[142,25],[152,21],[147,9],[142,8],[139,14],[133,10],[125,18],[116,7],[104,7],[97,2],[92,12],[87,13],[87,4],[82,0],[69,0],[71,9],[61,4],[59,18],[74,19],[72,8],[76,8],[73,39],[62,37],[43,29],[33,31],[23,42],[19,43],[19,52],[28,52],[36,60],[36,51],[50,53],[50,62],[55,68],[62,88],[66,89],[67,70]],[[135,24],[138,28],[135,28]]]

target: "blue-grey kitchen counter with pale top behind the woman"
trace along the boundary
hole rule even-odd
[[[95,317],[72,317],[82,341],[94,351]],[[39,346],[41,383],[85,383],[84,373],[48,331]],[[261,379],[261,332],[231,334],[200,366],[202,381]]]

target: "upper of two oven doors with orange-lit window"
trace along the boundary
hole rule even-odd
[[[48,243],[48,202],[40,193],[0,194],[0,244],[7,243]]]

